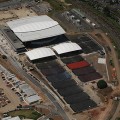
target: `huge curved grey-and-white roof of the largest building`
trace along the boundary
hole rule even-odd
[[[16,36],[22,41],[33,41],[64,34],[65,31],[47,15],[32,16],[7,22]]]

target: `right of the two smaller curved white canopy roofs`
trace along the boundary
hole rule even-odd
[[[61,43],[52,47],[58,54],[73,52],[82,50],[82,48],[76,43]]]

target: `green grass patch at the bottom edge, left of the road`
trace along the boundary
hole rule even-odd
[[[28,119],[33,119],[37,120],[42,114],[36,112],[35,110],[18,110],[18,111],[12,111],[9,112],[8,115],[14,117],[14,116],[19,116],[20,118],[28,118]]]

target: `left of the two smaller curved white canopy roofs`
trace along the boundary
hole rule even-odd
[[[37,48],[25,53],[30,60],[36,60],[44,57],[54,56],[55,53],[50,48]]]

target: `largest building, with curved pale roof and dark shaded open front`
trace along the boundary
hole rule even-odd
[[[15,43],[19,41],[26,48],[37,48],[68,40],[64,35],[65,31],[59,23],[47,15],[20,18],[7,22],[7,25],[9,28],[5,28],[4,32],[10,38],[10,41],[12,41],[10,43],[13,44],[14,49],[16,49]],[[17,37],[16,41],[13,41],[6,32],[8,29],[9,31],[12,30],[12,36],[15,35]],[[17,49],[16,51],[19,52]]]

